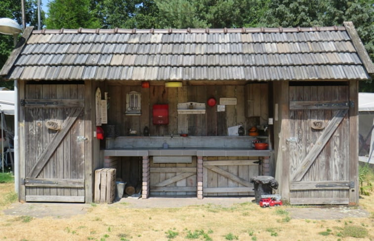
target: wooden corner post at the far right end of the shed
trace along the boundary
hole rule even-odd
[[[358,205],[358,81],[349,81],[349,205]]]

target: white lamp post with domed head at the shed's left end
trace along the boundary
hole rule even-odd
[[[10,18],[0,18],[0,33],[13,35],[14,46],[17,44],[17,35],[22,28]],[[14,190],[19,193],[19,143],[18,143],[18,83],[14,80]]]

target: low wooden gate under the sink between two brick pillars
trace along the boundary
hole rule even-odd
[[[151,157],[151,195],[197,195],[197,160],[192,163],[154,163]]]

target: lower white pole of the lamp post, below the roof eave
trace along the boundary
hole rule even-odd
[[[19,144],[18,144],[18,82],[14,80],[14,191],[19,194]],[[19,195],[18,195],[19,196]]]

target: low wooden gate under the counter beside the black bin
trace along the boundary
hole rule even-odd
[[[258,157],[204,157],[204,196],[254,195],[250,178],[259,174]]]

